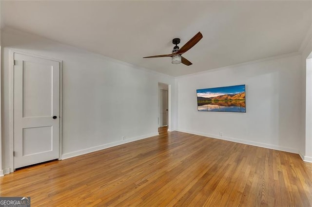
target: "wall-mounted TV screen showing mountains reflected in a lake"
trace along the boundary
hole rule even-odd
[[[198,89],[198,111],[246,112],[245,85]]]

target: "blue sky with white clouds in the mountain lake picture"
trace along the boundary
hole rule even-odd
[[[215,97],[221,96],[225,94],[237,94],[241,92],[245,92],[245,85],[239,86],[226,86],[226,87],[214,87],[214,88],[205,88],[196,90],[197,96],[199,97]]]

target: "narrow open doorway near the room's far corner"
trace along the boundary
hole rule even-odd
[[[158,83],[158,133],[168,131],[168,84]]]

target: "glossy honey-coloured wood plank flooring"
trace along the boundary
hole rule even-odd
[[[312,206],[312,164],[299,155],[159,132],[0,177],[0,196],[30,196],[32,206]]]

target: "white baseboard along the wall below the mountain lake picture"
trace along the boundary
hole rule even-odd
[[[206,134],[206,133],[201,133],[201,132],[193,132],[193,131],[183,130],[183,129],[178,129],[177,131],[190,133],[190,134],[194,134],[194,135],[199,135],[199,136],[204,136],[204,137],[209,137],[209,138],[217,138],[217,139],[222,139],[222,140],[226,140],[226,141],[233,141],[233,142],[237,142],[237,143],[241,143],[241,144],[253,145],[256,147],[264,147],[264,148],[268,148],[268,149],[298,154],[297,149],[277,146],[277,145],[273,145],[273,144],[266,144],[266,143],[249,141],[249,140],[238,139],[238,138],[229,138],[229,137],[223,137],[223,136],[221,137],[221,136],[217,136],[217,135],[211,135],[211,134]]]

